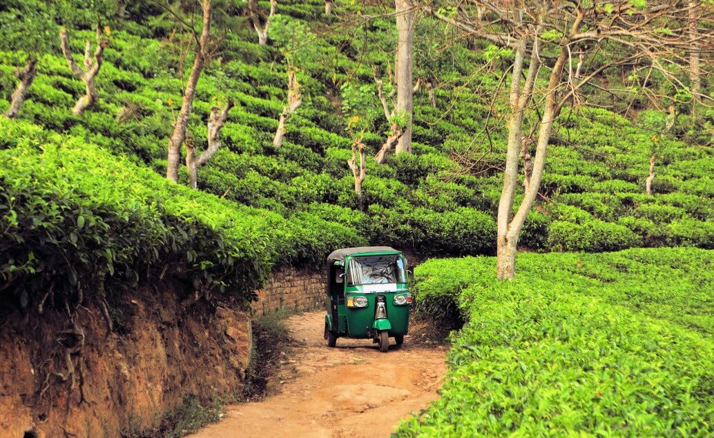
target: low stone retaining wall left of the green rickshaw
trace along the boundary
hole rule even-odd
[[[325,273],[306,268],[283,268],[273,272],[263,289],[256,290],[253,310],[263,315],[288,307],[295,310],[321,310],[325,304]]]

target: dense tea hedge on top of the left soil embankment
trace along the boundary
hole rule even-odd
[[[274,265],[321,266],[355,230],[290,218],[170,183],[83,138],[0,118],[0,287],[24,307],[181,275],[205,293],[250,300]],[[66,290],[61,290],[64,287]]]

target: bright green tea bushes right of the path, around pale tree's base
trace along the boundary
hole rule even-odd
[[[520,257],[513,282],[487,257],[416,268],[423,310],[468,322],[441,399],[397,436],[714,434],[712,251]]]

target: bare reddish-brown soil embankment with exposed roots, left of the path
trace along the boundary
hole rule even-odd
[[[186,305],[183,297],[191,290],[181,281],[124,292],[111,306],[107,339],[93,307],[74,315],[84,340],[68,336],[59,312],[3,317],[0,437],[151,435],[185,397],[241,392],[251,355],[248,313]]]

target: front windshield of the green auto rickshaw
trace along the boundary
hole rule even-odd
[[[351,286],[406,283],[404,262],[400,255],[353,257],[348,264],[347,281]]]

